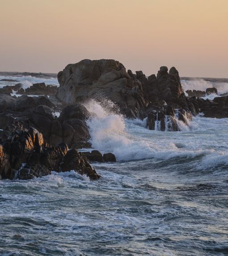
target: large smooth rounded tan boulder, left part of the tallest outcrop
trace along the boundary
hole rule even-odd
[[[69,64],[58,74],[59,88],[55,96],[67,104],[103,97],[116,103],[122,113],[142,117],[144,100],[141,83],[132,78],[125,67],[114,60],[83,60]]]

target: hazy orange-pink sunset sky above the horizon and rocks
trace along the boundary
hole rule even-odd
[[[228,78],[228,0],[0,0],[0,71],[58,73],[83,59]]]

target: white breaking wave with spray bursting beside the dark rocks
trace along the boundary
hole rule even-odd
[[[213,152],[211,150],[202,150],[201,148],[195,151],[187,148],[180,149],[175,146],[172,139],[166,141],[161,139],[163,134],[167,132],[148,130],[145,127],[146,120],[124,119],[122,115],[114,113],[110,108],[106,110],[97,101],[89,101],[85,104],[85,107],[95,114],[95,117],[87,121],[92,148],[99,150],[101,153],[114,153],[117,161],[146,158],[191,158]],[[180,127],[182,125],[180,129],[182,131],[172,132],[172,134],[180,136],[180,133],[190,132],[188,126],[184,125],[183,122],[178,121],[178,124]],[[192,124],[192,129],[193,127],[196,128],[198,126],[197,124]],[[143,134],[144,137],[142,138],[140,134]],[[145,134],[148,135],[146,138]]]

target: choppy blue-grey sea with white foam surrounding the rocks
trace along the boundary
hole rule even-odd
[[[49,75],[0,79],[58,84]],[[228,92],[228,79],[210,79],[182,78],[182,86]],[[198,115],[179,122],[181,131],[162,132],[110,104],[86,105],[97,114],[87,122],[92,147],[117,158],[92,163],[101,179],[72,170],[0,181],[0,255],[228,255],[228,118]]]

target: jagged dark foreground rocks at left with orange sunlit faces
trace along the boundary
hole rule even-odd
[[[75,170],[90,179],[100,178],[86,157],[66,143],[50,147],[43,141],[42,134],[30,127],[15,130],[3,145],[0,145],[0,178],[31,179],[51,174],[51,171]]]

